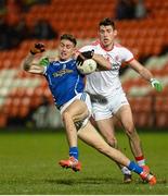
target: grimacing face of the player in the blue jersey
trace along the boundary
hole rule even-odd
[[[59,46],[59,57],[61,60],[66,61],[73,58],[75,53],[75,46],[68,39],[62,39]]]

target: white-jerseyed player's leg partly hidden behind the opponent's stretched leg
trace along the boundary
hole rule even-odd
[[[116,149],[119,149],[117,146],[117,139],[115,137],[113,118],[96,121],[96,125],[98,125],[102,136],[107,142],[107,144],[109,146],[116,148]],[[131,172],[126,167],[124,167],[121,164],[117,163],[117,166],[119,167],[119,169],[124,173],[124,182],[130,183],[131,182]]]

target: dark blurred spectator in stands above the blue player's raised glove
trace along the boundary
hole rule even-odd
[[[53,30],[48,21],[41,19],[35,23],[33,37],[36,39],[55,39],[59,34]]]

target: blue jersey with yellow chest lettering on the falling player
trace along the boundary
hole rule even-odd
[[[50,62],[44,76],[57,108],[83,91],[83,75],[78,72],[76,60]]]

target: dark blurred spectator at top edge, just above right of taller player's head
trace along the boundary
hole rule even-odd
[[[134,0],[118,0],[116,7],[117,20],[131,20],[135,17],[135,2]]]

